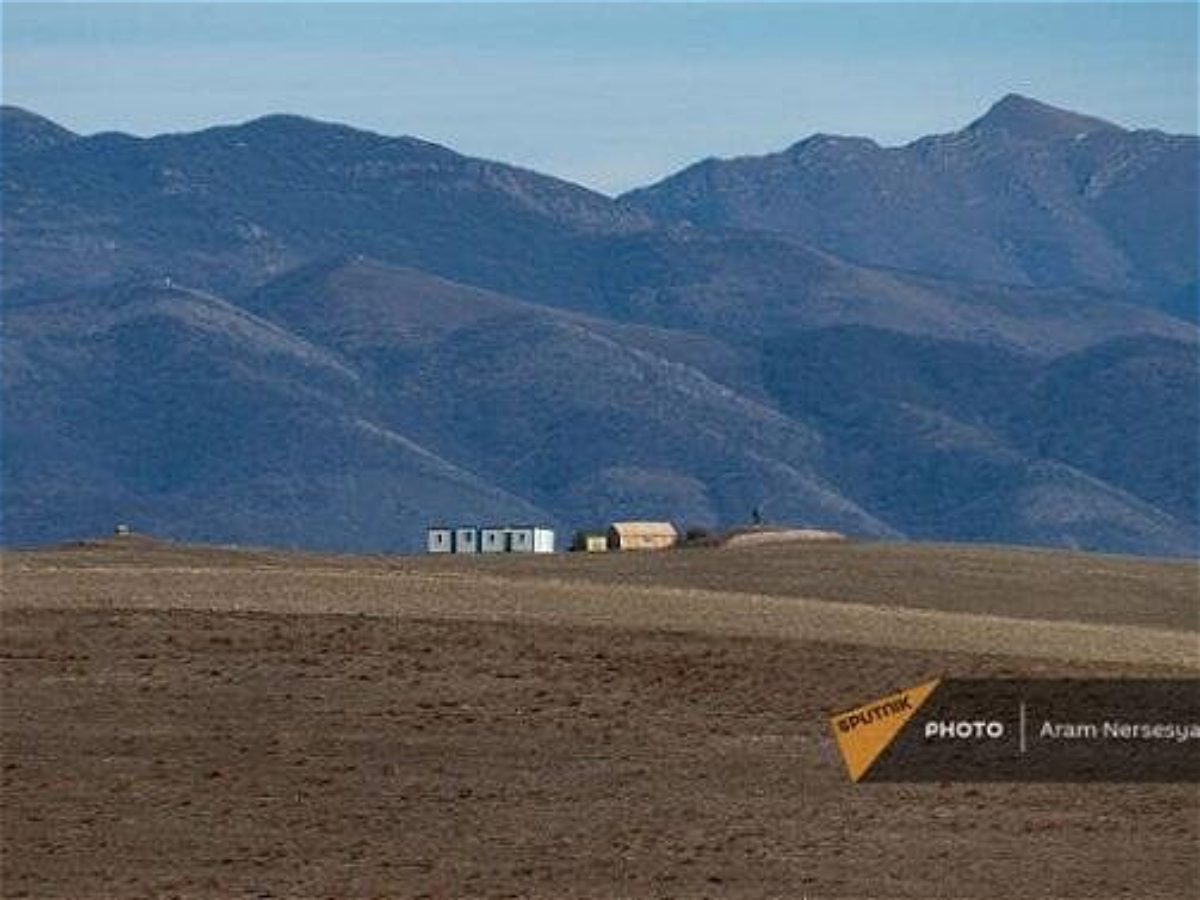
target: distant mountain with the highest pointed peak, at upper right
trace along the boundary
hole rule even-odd
[[[1090,286],[1174,310],[1196,282],[1198,163],[1195,136],[1126,131],[1010,95],[950,134],[899,148],[817,134],[706,160],[624,205],[870,265]]]

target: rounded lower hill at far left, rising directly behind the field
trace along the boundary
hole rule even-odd
[[[431,510],[547,514],[373,418],[335,354],[198,292],[139,283],[7,311],[10,542],[107,532],[412,546]]]

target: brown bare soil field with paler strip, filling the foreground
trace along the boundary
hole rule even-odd
[[[0,564],[4,896],[1200,896],[1195,786],[852,785],[827,724],[938,676],[1196,676],[1193,564]]]

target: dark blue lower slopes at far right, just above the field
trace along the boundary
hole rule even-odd
[[[838,328],[763,359],[778,406],[836,449],[828,478],[908,535],[1194,552],[1192,344],[1117,338],[1046,362]]]

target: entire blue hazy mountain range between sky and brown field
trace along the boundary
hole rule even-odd
[[[1195,554],[1194,136],[1009,96],[610,198],[272,115],[0,112],[2,538],[433,521]]]

